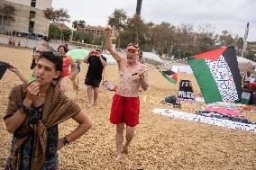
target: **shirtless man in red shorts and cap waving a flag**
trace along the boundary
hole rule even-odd
[[[123,58],[112,47],[111,27],[105,28],[105,45],[116,60],[119,67],[119,88],[114,94],[110,113],[110,122],[116,125],[116,149],[119,160],[122,153],[128,153],[128,147],[133,139],[135,126],[139,124],[140,99],[139,88],[143,90],[148,88],[148,75],[146,66],[138,62],[138,48],[130,45],[126,49],[126,58]],[[133,76],[133,73],[137,73]],[[126,141],[123,145],[123,130],[126,125]]]

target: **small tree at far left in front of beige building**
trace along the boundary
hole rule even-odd
[[[13,21],[14,22],[14,14],[15,14],[15,7],[12,4],[4,4],[0,6],[0,14],[1,17],[1,32],[3,33],[4,29],[4,21]]]

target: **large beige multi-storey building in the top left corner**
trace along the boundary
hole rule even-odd
[[[50,21],[43,10],[51,7],[52,0],[0,0],[0,5],[12,4],[15,8],[14,21],[0,22],[4,34],[48,35]],[[0,16],[2,14],[0,13]]]

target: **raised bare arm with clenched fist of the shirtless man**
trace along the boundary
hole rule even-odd
[[[122,56],[112,47],[111,32],[112,32],[112,28],[110,26],[106,26],[105,27],[105,47],[117,62],[121,62]]]

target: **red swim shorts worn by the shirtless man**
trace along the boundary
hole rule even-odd
[[[110,122],[113,124],[125,123],[133,127],[139,124],[140,99],[139,97],[123,97],[114,94]]]

